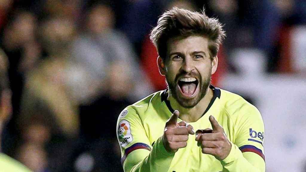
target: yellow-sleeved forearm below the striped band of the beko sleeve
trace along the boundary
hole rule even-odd
[[[221,164],[229,172],[265,172],[263,158],[253,152],[248,153],[249,155],[244,157],[237,145],[232,143],[230,154],[225,159],[221,160]]]

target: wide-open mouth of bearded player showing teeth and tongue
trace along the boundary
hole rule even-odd
[[[180,88],[182,95],[192,97],[198,88],[199,81],[195,77],[181,78],[177,85]]]

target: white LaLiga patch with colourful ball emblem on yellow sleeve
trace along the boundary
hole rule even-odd
[[[121,146],[126,146],[133,141],[133,136],[131,134],[130,123],[126,120],[122,120],[117,128],[118,140]]]

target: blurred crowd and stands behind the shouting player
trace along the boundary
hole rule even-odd
[[[266,171],[305,172],[305,0],[0,0],[2,152],[35,172],[123,171],[117,117],[166,88],[148,34],[173,6],[225,24],[212,82],[261,111]]]

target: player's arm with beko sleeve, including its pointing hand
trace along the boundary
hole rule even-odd
[[[223,128],[212,116],[209,118],[212,130],[197,136],[202,153],[214,155],[227,171],[264,172],[263,120],[254,107],[249,113],[239,116],[234,143],[227,139]],[[256,131],[253,131],[256,129]],[[210,130],[210,131],[209,131]],[[260,132],[259,132],[260,131]],[[256,133],[256,134],[255,134]]]

